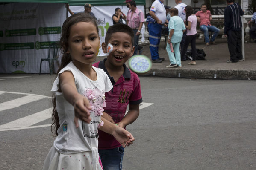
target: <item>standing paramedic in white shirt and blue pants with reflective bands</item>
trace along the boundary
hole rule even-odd
[[[150,20],[148,24],[149,29],[149,42],[151,59],[153,63],[161,63],[165,58],[160,58],[158,48],[161,38],[162,25],[167,22],[166,10],[163,4],[165,0],[155,0],[150,8],[150,15],[155,20]]]

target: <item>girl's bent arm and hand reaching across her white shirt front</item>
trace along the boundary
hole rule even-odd
[[[59,75],[60,88],[64,98],[74,106],[74,122],[78,127],[78,119],[90,123],[90,106],[88,98],[77,92],[74,75],[70,71],[65,71]]]

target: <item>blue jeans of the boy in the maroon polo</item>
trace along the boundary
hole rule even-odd
[[[114,149],[98,150],[104,170],[122,170],[124,147]]]

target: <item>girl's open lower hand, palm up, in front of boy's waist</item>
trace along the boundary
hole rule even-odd
[[[120,144],[122,144],[122,147],[128,147],[130,144],[133,144],[133,141],[135,140],[131,133],[119,126],[116,126],[112,135]]]

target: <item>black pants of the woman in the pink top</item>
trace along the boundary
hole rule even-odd
[[[196,38],[197,38],[197,34],[186,35],[185,41],[184,41],[184,45],[183,45],[183,47],[181,49],[180,58],[183,58],[183,59],[186,58],[185,54],[186,54],[186,52],[188,50],[188,45],[190,43],[191,44],[191,48],[192,48],[192,58],[193,58],[193,61],[196,61],[196,57],[197,57]]]

